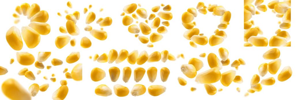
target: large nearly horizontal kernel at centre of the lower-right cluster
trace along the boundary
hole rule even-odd
[[[219,81],[221,78],[221,72],[218,68],[211,68],[199,73],[195,79],[197,83],[210,84]]]

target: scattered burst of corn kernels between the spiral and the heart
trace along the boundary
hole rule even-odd
[[[72,3],[68,2],[67,6],[69,8],[72,8]],[[89,5],[88,8],[89,9],[92,8],[92,5]],[[100,10],[100,12],[102,10]],[[84,15],[87,13],[87,11],[88,11],[88,9],[84,8],[84,11],[83,11]],[[71,46],[74,47],[76,45],[76,39],[75,38],[71,39],[71,36],[80,35],[80,29],[78,28],[76,23],[77,23],[77,21],[79,21],[81,13],[79,11],[74,11],[73,13],[68,13],[67,10],[65,10],[65,13],[66,13],[65,19],[67,20],[67,22],[66,22],[65,27],[64,26],[59,27],[59,31],[61,33],[68,33],[69,35],[61,35],[55,39],[55,45],[59,49],[66,46],[68,43],[70,43]],[[62,16],[62,14],[59,12],[57,14],[59,17]],[[96,14],[94,12],[89,12],[86,15],[87,16],[86,16],[85,24],[87,24],[87,26],[85,26],[82,29],[89,32],[92,35],[92,37],[94,37],[98,40],[104,41],[107,38],[107,32],[105,32],[103,30],[103,27],[112,25],[112,18],[111,17],[105,17],[105,18],[97,17],[97,19],[96,19]],[[100,29],[94,29],[92,26],[90,26],[94,21],[96,21],[96,23],[99,26],[101,26]],[[89,48],[92,46],[92,42],[88,37],[90,37],[90,36],[85,35],[83,38],[81,38],[80,46],[82,48]]]

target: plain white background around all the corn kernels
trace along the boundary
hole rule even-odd
[[[1,11],[2,16],[0,19],[0,45],[1,45],[1,52],[0,52],[0,66],[3,66],[8,69],[8,73],[5,75],[0,76],[0,83],[5,81],[8,78],[14,78],[18,80],[19,83],[25,89],[33,83],[38,83],[42,85],[44,83],[49,83],[50,87],[45,92],[38,92],[37,96],[33,97],[34,100],[49,100],[52,98],[52,93],[58,89],[60,85],[60,80],[67,80],[68,81],[68,88],[69,92],[66,96],[66,100],[71,99],[134,99],[134,100],[155,100],[155,99],[300,99],[301,98],[301,89],[302,89],[302,80],[301,80],[301,28],[302,18],[301,18],[301,4],[300,0],[293,0],[292,2],[292,22],[291,22],[291,40],[292,46],[291,47],[278,47],[281,51],[280,58],[282,59],[282,65],[279,69],[278,73],[284,68],[285,66],[291,66],[293,74],[290,79],[285,82],[280,82],[277,80],[278,73],[275,75],[271,75],[268,73],[263,78],[267,77],[275,77],[276,83],[272,86],[263,86],[261,92],[255,92],[253,94],[249,94],[248,97],[244,97],[246,90],[250,88],[250,79],[254,74],[258,74],[258,66],[264,62],[270,62],[270,60],[264,60],[262,55],[267,50],[271,49],[272,47],[243,47],[243,1],[242,0],[190,0],[190,1],[175,1],[175,0],[151,0],[151,1],[142,1],[142,0],[121,0],[121,1],[93,1],[93,0],[86,0],[86,1],[71,1],[73,8],[70,9],[66,6],[66,0],[52,0],[52,1],[41,1],[41,0],[28,0],[26,1],[30,5],[32,3],[37,3],[41,10],[46,10],[49,14],[48,24],[51,25],[51,32],[48,35],[41,35],[40,44],[33,48],[29,49],[26,47],[25,43],[22,50],[20,52],[29,52],[32,53],[35,57],[37,57],[39,51],[51,51],[52,54],[48,58],[46,62],[43,64],[51,65],[51,59],[57,58],[64,61],[63,65],[60,66],[52,66],[50,70],[42,69],[41,74],[36,75],[38,68],[35,68],[34,65],[23,66],[20,65],[16,61],[16,52],[13,50],[5,39],[6,31],[12,27],[17,26],[20,30],[22,26],[27,26],[30,23],[25,16],[21,15],[20,23],[14,24],[13,21],[15,18],[12,17],[12,14],[15,12],[15,7],[17,5],[21,5],[25,1],[16,1],[10,0],[6,1],[5,3],[1,3]],[[231,11],[231,20],[230,25],[224,31],[227,33],[228,37],[225,41],[217,46],[211,47],[209,44],[205,46],[198,45],[198,48],[193,48],[189,45],[189,41],[183,37],[183,33],[187,30],[181,24],[181,15],[183,12],[187,10],[187,8],[195,8],[198,2],[204,2],[205,5],[208,4],[217,4],[222,5],[228,11]],[[268,0],[265,0],[268,2]],[[122,17],[120,14],[123,12],[122,9],[125,5],[131,3],[139,3],[142,5],[142,8],[145,8],[148,11],[148,14],[151,14],[151,8],[160,5],[161,3],[165,5],[171,5],[171,13],[173,14],[173,19],[169,20],[170,26],[167,28],[168,33],[164,34],[164,38],[154,43],[153,48],[149,48],[146,44],[142,44],[138,41],[137,38],[134,37],[134,34],[131,34],[127,31],[127,26],[122,25]],[[93,38],[89,32],[84,31],[85,18],[86,14],[83,14],[83,9],[88,8],[88,5],[92,5],[93,7],[88,10],[88,12],[93,11],[96,14],[96,20],[99,17],[111,17],[113,23],[111,26],[104,27],[104,30],[108,33],[108,38],[105,41],[99,41]],[[263,5],[267,5],[267,3],[263,3]],[[100,8],[104,8],[102,12],[99,12]],[[161,8],[162,9],[162,8]],[[70,44],[66,45],[62,49],[58,49],[55,46],[55,38],[61,35],[68,35],[60,33],[58,28],[59,26],[65,26],[65,13],[64,10],[68,10],[69,13],[74,11],[80,12],[80,20],[77,22],[77,26],[80,29],[80,35],[78,36],[71,36],[72,38],[76,38],[77,43],[75,47],[71,47]],[[58,17],[57,12],[62,14],[62,17]],[[155,13],[156,14],[156,13]],[[265,14],[262,13],[261,14]],[[200,33],[204,33],[207,37],[213,35],[213,31],[217,29],[217,25],[219,24],[220,17],[213,16],[210,12],[208,14],[198,14],[198,17],[195,17],[195,21],[197,23],[197,28],[200,29]],[[254,16],[255,24],[260,26],[263,30],[265,36],[269,39],[271,36],[275,35],[275,30],[278,29],[277,22],[281,19],[277,19],[275,14],[271,13],[271,10],[268,9],[265,15],[259,15],[258,17]],[[142,21],[142,20],[140,20]],[[267,22],[268,21],[268,22]],[[150,25],[151,21],[149,21]],[[95,21],[90,24],[94,29],[100,29]],[[300,29],[301,30],[301,29]],[[156,32],[154,29],[153,32]],[[269,34],[269,35],[268,35]],[[142,35],[142,33],[140,33]],[[88,49],[84,49],[80,46],[80,40],[82,37],[88,37],[92,41],[92,46]],[[198,58],[204,62],[204,67],[198,71],[198,73],[209,69],[207,64],[206,58],[199,57],[201,53],[215,53],[218,55],[218,48],[225,47],[229,51],[229,59],[231,63],[238,59],[242,58],[245,60],[246,65],[240,65],[239,70],[236,72],[236,75],[240,75],[244,82],[242,84],[238,83],[231,83],[230,86],[225,87],[221,85],[220,82],[216,82],[213,85],[216,86],[217,89],[222,88],[223,91],[217,92],[215,95],[208,95],[204,89],[203,84],[197,84],[194,79],[187,78],[184,74],[182,74],[180,70],[180,66],[182,64],[187,64],[190,58]],[[109,50],[115,49],[118,52],[121,49],[126,49],[128,52],[132,52],[133,50],[138,50],[139,53],[143,50],[146,50],[148,54],[151,54],[154,51],[162,51],[168,50],[169,53],[177,56],[180,53],[184,53],[185,59],[177,59],[176,61],[167,61],[163,62],[154,62],[154,63],[145,63],[143,65],[130,65],[126,60],[120,64],[108,64],[108,63],[98,63],[93,62],[92,59],[88,59],[89,56],[93,56],[94,54],[102,54],[108,53]],[[68,64],[65,62],[65,58],[71,53],[79,51],[81,54],[81,58],[73,63]],[[10,65],[9,61],[11,58],[15,59],[15,62]],[[83,80],[82,81],[75,81],[72,79],[66,79],[64,74],[62,73],[64,68],[68,68],[68,72],[71,72],[72,68],[78,64],[83,64]],[[112,66],[117,66],[121,70],[120,78],[116,82],[111,82],[108,68]],[[154,83],[150,83],[148,81],[147,74],[143,77],[143,79],[136,83],[133,80],[133,74],[131,79],[128,83],[124,83],[122,81],[122,69],[126,66],[132,68],[132,71],[135,68],[142,67],[147,70],[149,67],[156,67],[158,68],[158,77]],[[28,68],[32,71],[35,76],[36,80],[28,80],[24,76],[19,76],[17,73],[22,68]],[[92,68],[102,68],[106,72],[106,77],[98,82],[93,82],[90,79],[90,72]],[[160,69],[162,67],[169,68],[171,74],[166,82],[162,82],[160,78]],[[231,70],[229,65],[224,66],[221,70],[221,73]],[[51,82],[49,78],[51,78],[51,74],[54,73],[57,78],[56,82]],[[47,76],[48,80],[44,80],[43,76]],[[187,80],[188,84],[186,86],[181,86],[178,83],[177,77],[183,77]],[[106,84],[112,89],[113,94],[108,97],[98,96],[94,93],[95,87],[100,84]],[[115,84],[121,84],[123,86],[128,87],[130,90],[135,84],[143,84],[148,88],[150,85],[163,85],[165,86],[166,92],[159,95],[159,96],[151,96],[146,93],[141,96],[134,97],[129,94],[126,97],[118,97],[114,94],[113,86]],[[195,87],[197,90],[195,92],[191,92],[190,88]],[[241,92],[237,92],[236,88],[240,87]],[[17,96],[17,95],[16,95]],[[7,99],[3,93],[0,93],[0,99]]]

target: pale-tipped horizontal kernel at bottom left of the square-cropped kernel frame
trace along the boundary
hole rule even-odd
[[[248,43],[257,47],[266,47],[268,45],[268,40],[265,37],[251,36],[248,38]]]

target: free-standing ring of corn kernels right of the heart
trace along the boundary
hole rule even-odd
[[[218,29],[214,32],[215,35],[211,35],[207,38],[205,34],[200,34],[198,28],[194,28],[196,26],[194,19],[198,16],[197,10],[201,14],[207,14],[207,11],[209,11],[213,12],[212,14],[215,16],[221,16]],[[224,31],[220,31],[219,29],[226,29],[230,19],[230,11],[225,10],[223,6],[209,5],[206,7],[203,2],[199,2],[196,8],[188,8],[187,11],[182,14],[182,25],[184,28],[188,29],[184,32],[183,36],[185,39],[191,40],[189,44],[195,48],[197,47],[196,44],[206,45],[209,43],[210,46],[221,44],[224,39],[227,38],[227,35]]]

